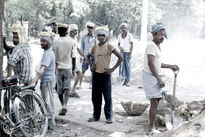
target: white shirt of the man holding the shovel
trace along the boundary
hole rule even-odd
[[[148,65],[148,57],[147,57],[148,54],[153,55],[155,57],[154,66],[155,66],[155,69],[157,71],[157,74],[161,75],[162,74],[161,51],[153,41],[148,43],[148,45],[145,49],[145,56],[144,56],[144,71],[152,74],[152,72],[149,68],[149,65]]]

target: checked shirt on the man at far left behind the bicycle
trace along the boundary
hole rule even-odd
[[[14,66],[14,74],[19,77],[20,83],[31,82],[33,59],[28,44],[17,45],[9,56],[8,64]]]

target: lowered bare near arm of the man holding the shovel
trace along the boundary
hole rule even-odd
[[[160,88],[163,88],[165,86],[165,83],[162,81],[162,79],[160,78],[160,76],[158,75],[155,65],[154,65],[154,60],[155,60],[155,56],[148,54],[148,66],[150,68],[150,71],[152,72],[152,74],[155,76],[155,78],[157,79]]]

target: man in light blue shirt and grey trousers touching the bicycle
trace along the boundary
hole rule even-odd
[[[54,116],[54,101],[53,92],[55,87],[55,55],[51,48],[53,43],[52,37],[54,33],[41,32],[41,48],[44,49],[44,53],[41,59],[40,71],[31,83],[37,82],[41,79],[40,89],[41,97],[46,103],[46,109],[49,114],[48,129],[54,130],[55,116]]]

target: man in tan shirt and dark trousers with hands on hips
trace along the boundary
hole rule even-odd
[[[94,45],[88,54],[88,62],[92,69],[93,103],[93,116],[88,119],[88,122],[98,121],[100,119],[103,95],[105,100],[104,114],[106,123],[112,123],[111,73],[120,65],[122,57],[112,45],[107,43],[108,32],[109,30],[106,26],[96,28],[96,36],[99,43]],[[112,53],[118,58],[118,61],[113,68],[110,68]],[[94,56],[94,64],[90,60],[92,55]]]

